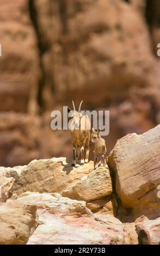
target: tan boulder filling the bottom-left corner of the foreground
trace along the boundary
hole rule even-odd
[[[0,245],[26,244],[38,225],[36,206],[16,200],[0,203]]]

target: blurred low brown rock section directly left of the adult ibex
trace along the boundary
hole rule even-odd
[[[66,155],[71,153],[70,132],[52,131],[51,120],[44,116],[3,112],[0,118],[1,166],[13,167],[33,159],[63,155],[64,144]]]

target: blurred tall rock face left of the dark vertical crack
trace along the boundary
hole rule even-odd
[[[28,13],[27,0],[1,0],[0,111],[27,112],[30,96],[35,96],[39,61]]]

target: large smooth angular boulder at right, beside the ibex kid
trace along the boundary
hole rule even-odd
[[[160,125],[142,135],[132,133],[119,139],[110,153],[108,163],[113,170],[115,190],[126,208],[147,207],[159,215],[159,143]]]

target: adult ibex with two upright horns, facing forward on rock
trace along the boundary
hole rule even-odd
[[[68,113],[72,117],[69,129],[73,144],[73,162],[72,166],[76,165],[76,161],[81,157],[81,164],[88,163],[89,143],[90,143],[90,120],[85,111],[81,111],[82,102],[79,104],[78,111],[76,111],[75,104],[73,104],[73,111],[68,107]],[[84,148],[86,146],[86,156],[84,161]]]

